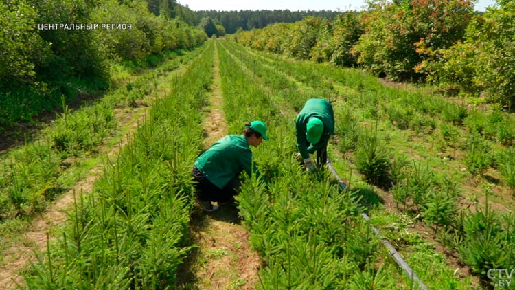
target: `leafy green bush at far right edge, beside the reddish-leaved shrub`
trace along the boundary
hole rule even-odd
[[[466,29],[464,41],[443,47],[425,67],[431,80],[456,83],[468,93],[485,91],[490,99],[514,106],[515,71],[512,67],[515,3],[499,1],[475,16]]]

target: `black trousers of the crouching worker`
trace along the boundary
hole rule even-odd
[[[211,183],[196,166],[193,166],[192,176],[194,181],[196,181],[195,191],[197,197],[202,201],[229,201],[240,190],[241,181],[238,176],[231,179],[224,188],[218,188],[218,186]]]

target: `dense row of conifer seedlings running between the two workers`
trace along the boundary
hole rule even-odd
[[[247,52],[240,45],[224,40],[215,43],[229,131],[241,130],[242,122],[253,115],[252,118],[267,118],[271,122],[270,136],[275,136],[253,151],[260,172],[273,171],[273,179],[265,186],[253,175],[246,179],[236,198],[252,247],[262,258],[256,288],[347,289],[349,278],[360,271],[359,266],[371,263],[376,268],[373,261],[381,254],[374,232],[359,216],[363,191],[339,190],[328,170],[311,175],[295,158],[288,158],[296,151],[295,135],[290,120],[277,113],[279,109],[274,104],[286,101],[284,111],[293,111],[297,103],[302,103],[297,99],[306,98],[311,90],[297,89],[295,82],[285,76],[311,80],[311,74],[316,76],[316,72],[308,73],[308,65],[305,68],[284,62],[281,67],[288,71],[286,74],[271,69],[271,60]],[[298,93],[270,94],[267,87],[297,89]],[[256,103],[260,110],[253,109]],[[350,123],[358,126],[354,118]],[[346,134],[345,129],[340,130]]]

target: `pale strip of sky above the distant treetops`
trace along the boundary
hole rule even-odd
[[[363,10],[365,0],[177,0],[191,10]],[[474,9],[485,11],[495,0],[479,0]]]

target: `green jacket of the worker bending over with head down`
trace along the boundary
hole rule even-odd
[[[316,117],[323,122],[323,132],[317,144],[310,144],[306,140],[306,124],[311,117]],[[323,99],[310,99],[297,115],[295,120],[295,135],[297,136],[297,148],[303,159],[310,157],[314,151],[328,145],[329,138],[334,135],[334,113],[330,102]]]

